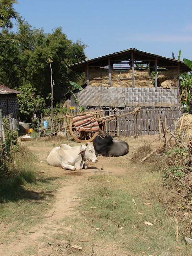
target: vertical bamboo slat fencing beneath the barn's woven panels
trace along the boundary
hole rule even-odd
[[[94,110],[94,108],[90,108]],[[124,109],[116,109],[118,114],[125,114],[133,111],[134,108],[126,107]],[[104,109],[104,115],[114,114],[112,108]],[[137,116],[137,134],[158,134],[159,131],[159,119],[163,121],[165,116],[167,118],[167,126],[169,130],[174,130],[174,121],[178,121],[179,117],[182,116],[182,110],[177,107],[171,108],[160,108],[160,107],[149,107],[142,108],[142,111]],[[132,116],[123,116],[105,123],[105,129],[112,136],[134,136],[136,134],[136,118]]]

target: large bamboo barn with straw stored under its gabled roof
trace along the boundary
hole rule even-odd
[[[182,61],[130,48],[68,66],[86,73],[82,91],[75,90],[80,105],[87,109],[102,108],[105,115],[132,111],[138,114],[138,135],[156,134],[158,116],[173,130],[174,120],[182,115],[179,102],[179,74],[190,71]],[[75,106],[71,95],[71,105]],[[106,131],[117,136],[135,134],[134,116],[109,121]]]

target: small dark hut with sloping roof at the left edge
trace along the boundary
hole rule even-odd
[[[0,109],[2,109],[3,116],[12,114],[12,117],[16,118],[18,111],[18,93],[22,92],[10,89],[5,85],[0,84]]]

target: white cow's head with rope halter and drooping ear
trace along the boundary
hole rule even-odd
[[[90,160],[92,161],[92,163],[98,162],[98,159],[95,155],[95,149],[94,149],[93,145],[89,142],[80,146],[79,155],[80,154],[82,154],[85,162],[87,162],[87,163],[89,163]]]

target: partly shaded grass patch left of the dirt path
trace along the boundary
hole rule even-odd
[[[35,160],[28,148],[20,146],[19,151],[12,152],[6,168],[1,169],[0,225],[5,228],[0,243],[10,243],[21,232],[42,223],[50,210],[47,203],[54,201],[54,193],[64,179],[39,172]]]

